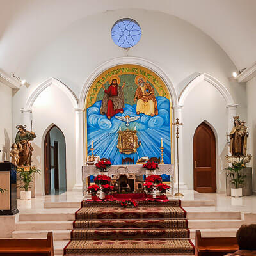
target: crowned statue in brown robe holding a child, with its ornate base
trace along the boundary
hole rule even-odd
[[[230,134],[229,152],[230,156],[226,156],[228,163],[234,163],[237,158],[244,158],[244,163],[249,163],[251,155],[246,154],[247,152],[247,138],[248,138],[248,127],[245,126],[244,121],[239,120],[239,116],[234,116],[234,127]]]

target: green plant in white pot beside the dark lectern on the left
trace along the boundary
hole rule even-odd
[[[35,166],[30,166],[28,171],[24,170],[22,167],[17,168],[18,179],[22,182],[19,184],[19,188],[24,189],[24,191],[20,191],[21,200],[31,199],[31,191],[28,191],[28,189],[31,188],[31,182],[33,182],[35,174],[40,172],[41,170],[37,169]]]

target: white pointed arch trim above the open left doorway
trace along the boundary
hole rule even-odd
[[[29,95],[29,98],[26,102],[25,108],[23,109],[23,111],[31,111],[33,104],[36,100],[36,98],[38,97],[38,95],[40,95],[41,92],[43,92],[48,86],[58,86],[58,88],[60,88],[60,90],[62,90],[67,96],[68,98],[71,100],[72,105],[74,106],[74,108],[77,108],[78,106],[78,99],[76,97],[76,95],[72,92],[72,90],[70,90],[70,88],[68,88],[67,85],[61,83],[60,81],[58,81],[55,78],[49,78],[47,80],[45,80],[43,83],[40,83],[37,88],[31,93],[31,95]]]

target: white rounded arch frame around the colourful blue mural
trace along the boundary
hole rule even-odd
[[[166,74],[161,70],[161,68],[157,67],[154,63],[151,61],[145,60],[143,58],[136,58],[136,57],[122,57],[122,58],[115,58],[113,60],[109,60],[106,63],[103,63],[100,65],[96,70],[93,71],[93,73],[88,77],[86,80],[86,83],[83,86],[83,89],[81,91],[80,97],[79,97],[79,108],[85,109],[84,115],[83,115],[83,130],[84,130],[84,161],[86,161],[87,158],[87,123],[86,123],[86,106],[87,106],[87,98],[88,98],[88,93],[90,92],[90,88],[95,81],[97,77],[100,76],[103,72],[108,70],[109,68],[113,68],[118,65],[138,65],[143,68],[147,68],[154,74],[156,74],[161,81],[163,81],[164,85],[166,86],[166,91],[168,93],[168,99],[170,99],[170,123],[172,123],[172,117],[173,117],[173,109],[172,106],[176,105],[178,102],[178,97],[177,93],[175,91],[175,88],[168,78]],[[173,163],[173,136],[172,136],[172,127],[170,124],[170,141],[171,141],[171,163]]]

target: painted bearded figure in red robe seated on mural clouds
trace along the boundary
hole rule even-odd
[[[125,82],[122,86],[118,86],[117,79],[115,78],[112,79],[108,90],[102,86],[105,93],[100,107],[101,115],[107,115],[108,119],[110,119],[117,113],[122,114],[124,112],[124,86]]]

